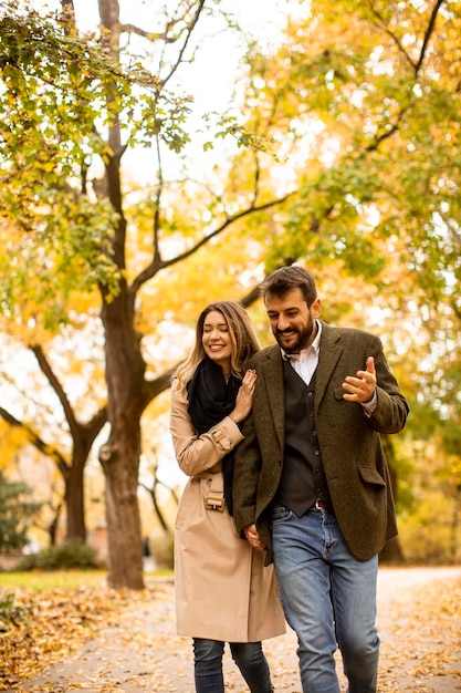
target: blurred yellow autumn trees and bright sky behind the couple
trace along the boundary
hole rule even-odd
[[[168,376],[200,308],[241,298],[269,343],[253,289],[298,261],[324,319],[381,335],[410,400],[388,442],[404,556],[459,561],[460,3],[274,1],[262,32],[233,4],[105,0],[82,34],[2,3],[1,464],[31,444],[52,461],[40,521],[64,501],[71,536],[96,457],[137,503],[175,466]],[[105,463],[117,446],[129,464]]]

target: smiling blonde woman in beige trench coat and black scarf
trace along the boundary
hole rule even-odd
[[[259,349],[240,303],[211,303],[172,383],[175,454],[190,477],[175,529],[177,630],[193,639],[197,693],[223,693],[224,642],[250,691],[273,691],[261,640],[285,632],[272,568],[231,517],[233,449],[256,380],[254,371],[242,375],[242,364]]]

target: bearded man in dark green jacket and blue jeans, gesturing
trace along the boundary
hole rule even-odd
[[[262,296],[279,345],[247,364],[258,380],[235,453],[234,519],[274,561],[303,693],[339,693],[337,645],[348,693],[373,693],[377,555],[397,534],[379,434],[404,428],[408,404],[377,337],[319,321],[308,271],[275,270]]]

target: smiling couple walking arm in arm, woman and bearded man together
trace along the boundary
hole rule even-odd
[[[285,619],[303,693],[339,693],[337,647],[348,692],[375,693],[377,556],[397,534],[379,436],[408,405],[377,337],[319,320],[311,272],[277,269],[262,297],[277,344],[211,303],[172,383],[178,634],[197,693],[223,693],[226,642],[251,693],[274,691],[261,641]]]

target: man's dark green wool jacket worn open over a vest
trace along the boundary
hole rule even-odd
[[[375,358],[377,405],[371,417],[362,404],[343,399],[347,375]],[[270,506],[283,466],[284,384],[279,344],[263,349],[247,364],[256,370],[252,413],[242,426],[233,482],[239,531],[256,523],[272,561]],[[335,515],[350,551],[360,560],[378,554],[397,535],[390,475],[380,433],[399,433],[408,404],[390,372],[379,338],[322,323],[315,383],[315,426]]]

